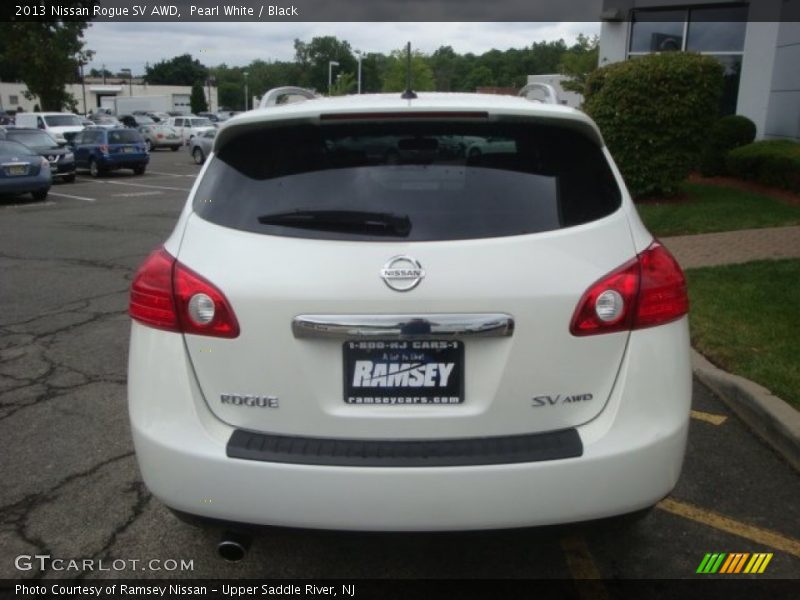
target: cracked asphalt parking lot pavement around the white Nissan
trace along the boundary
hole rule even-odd
[[[764,574],[739,577],[798,577],[800,478],[697,382],[681,480],[637,524],[271,529],[243,562],[218,559],[219,532],[178,522],[142,485],[125,399],[128,286],[171,231],[198,170],[188,152],[156,152],[144,176],[81,174],[47,202],[0,203],[0,578],[666,579],[709,577],[695,571],[710,552],[773,553]],[[128,562],[120,571],[17,570],[26,554]],[[152,559],[193,569],[141,570]]]

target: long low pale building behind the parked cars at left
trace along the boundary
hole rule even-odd
[[[25,111],[32,111],[39,100],[28,100],[23,93],[26,89],[24,83],[0,82],[0,110],[16,110],[21,106]],[[114,98],[126,96],[167,96],[171,99],[170,110],[192,112],[189,103],[192,88],[188,85],[148,85],[138,78],[128,80],[116,77],[107,77],[104,82],[102,79],[87,77],[83,84],[67,84],[67,91],[75,98],[79,114],[111,107]],[[206,86],[203,91],[209,111],[218,110],[217,88]]]

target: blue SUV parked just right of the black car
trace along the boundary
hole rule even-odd
[[[89,169],[100,177],[114,169],[133,169],[142,175],[150,162],[142,134],[135,129],[92,127],[79,132],[70,141],[79,169]]]

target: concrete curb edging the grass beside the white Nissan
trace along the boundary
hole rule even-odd
[[[800,412],[767,388],[715,367],[694,348],[692,370],[756,435],[800,471]]]

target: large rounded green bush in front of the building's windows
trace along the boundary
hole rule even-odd
[[[674,52],[590,75],[584,109],[600,127],[633,196],[678,191],[717,117],[722,72],[710,56]]]

